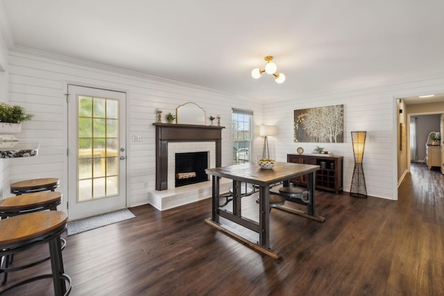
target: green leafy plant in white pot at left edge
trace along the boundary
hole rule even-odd
[[[22,122],[31,120],[33,116],[22,106],[0,103],[0,141],[18,141],[13,134],[21,132]]]

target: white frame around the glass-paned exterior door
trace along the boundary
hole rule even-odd
[[[108,90],[108,91],[115,91],[115,92],[124,92],[126,93],[126,100],[125,100],[125,133],[126,133],[126,139],[125,139],[125,147],[126,147],[126,166],[125,166],[125,205],[126,207],[128,207],[128,171],[130,168],[130,162],[128,161],[128,159],[130,159],[130,149],[128,149],[129,144],[130,144],[130,137],[128,137],[128,132],[129,132],[129,128],[128,128],[128,98],[130,98],[130,91],[128,89],[123,89],[123,88],[119,88],[119,87],[115,87],[115,85],[94,85],[91,84],[90,82],[79,82],[79,81],[74,81],[74,80],[63,80],[63,99],[65,100],[65,107],[64,107],[64,117],[65,117],[65,132],[66,132],[66,137],[63,137],[63,150],[65,151],[65,157],[63,157],[63,177],[65,181],[65,184],[61,184],[61,186],[63,188],[61,188],[60,190],[62,191],[62,194],[65,198],[62,198],[62,204],[60,204],[62,206],[62,211],[65,211],[66,213],[68,213],[68,194],[69,194],[69,182],[68,182],[68,177],[69,177],[69,159],[68,159],[68,138],[69,138],[69,134],[68,134],[68,130],[69,130],[69,122],[68,122],[68,85],[73,85],[73,86],[78,86],[78,87],[90,87],[90,88],[94,88],[94,89],[103,89],[103,90]],[[72,98],[70,98],[72,99]],[[68,217],[69,220],[69,217]]]

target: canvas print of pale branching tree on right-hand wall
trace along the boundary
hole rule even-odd
[[[343,143],[344,105],[294,110],[294,141]]]

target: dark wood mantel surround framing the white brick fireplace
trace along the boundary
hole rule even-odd
[[[155,190],[168,189],[168,143],[214,141],[216,167],[222,165],[222,129],[224,126],[153,123],[155,125]]]

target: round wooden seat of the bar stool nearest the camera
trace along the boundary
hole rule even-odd
[[[40,240],[65,229],[68,215],[64,211],[37,211],[0,220],[0,250]]]

